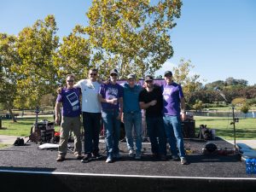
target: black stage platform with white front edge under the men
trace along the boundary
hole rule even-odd
[[[234,146],[221,138],[209,141],[228,152]],[[180,161],[155,160],[150,143],[143,143],[142,160],[128,156],[126,143],[119,143],[120,160],[81,163],[72,153],[56,162],[55,149],[38,150],[38,144],[0,149],[0,189],[9,191],[255,191],[256,175],[247,175],[239,154],[203,154],[206,142],[185,139],[189,165]],[[169,157],[169,156],[168,156]]]

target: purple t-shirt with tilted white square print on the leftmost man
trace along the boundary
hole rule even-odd
[[[67,89],[63,88],[58,94],[56,102],[62,102],[61,113],[65,117],[77,117],[81,113],[79,96],[80,88]]]

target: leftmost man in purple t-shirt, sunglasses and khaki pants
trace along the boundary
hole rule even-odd
[[[67,75],[66,82],[67,87],[61,89],[61,93],[58,94],[55,105],[55,123],[58,125],[60,122],[59,114],[62,103],[61,136],[58,157],[56,159],[57,161],[65,160],[65,156],[67,154],[67,141],[70,131],[73,131],[74,134],[74,154],[78,160],[82,159],[82,143],[80,139],[81,108],[79,101],[81,90],[73,87],[73,74]]]

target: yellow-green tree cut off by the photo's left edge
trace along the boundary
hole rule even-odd
[[[12,72],[11,67],[20,63],[20,57],[15,47],[15,36],[0,33],[0,102],[9,111],[14,122],[16,119],[12,108],[17,93],[18,76]]]

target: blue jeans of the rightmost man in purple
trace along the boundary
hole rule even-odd
[[[177,155],[177,148],[180,157],[185,157],[183,133],[180,116],[164,115],[167,141],[170,144],[172,155]]]

